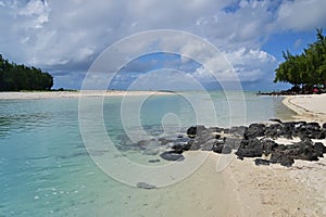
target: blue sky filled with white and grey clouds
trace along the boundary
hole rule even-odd
[[[281,51],[301,53],[312,43],[315,29],[326,27],[325,8],[325,0],[0,0],[0,53],[49,72],[53,88],[80,89],[91,65],[110,46],[134,34],[174,29],[213,44],[244,90],[279,90],[289,87],[273,82],[275,68],[284,61]],[[221,63],[189,58],[204,52],[196,43],[174,44],[175,53],[152,54],[141,44],[137,41],[126,49],[143,55],[111,72],[108,88],[128,89],[139,81],[137,87],[143,89],[191,89],[188,77],[206,89],[221,88],[206,68]],[[227,74],[218,76],[224,80]]]

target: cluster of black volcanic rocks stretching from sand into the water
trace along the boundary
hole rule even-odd
[[[161,154],[168,161],[181,159],[181,153],[189,150],[205,150],[221,154],[230,154],[235,150],[238,158],[255,157],[256,165],[280,164],[291,166],[294,159],[318,161],[326,153],[322,142],[312,139],[326,138],[326,123],[287,122],[272,119],[272,124],[252,124],[228,129],[193,126],[187,130],[189,141],[174,142],[172,151]],[[300,138],[299,142],[279,144],[278,138]],[[256,158],[259,157],[259,158]],[[264,157],[264,158],[262,158]]]

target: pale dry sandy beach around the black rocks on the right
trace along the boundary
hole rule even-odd
[[[284,103],[298,114],[297,119],[326,122],[326,94],[287,97]],[[326,145],[325,139],[321,141]],[[237,202],[229,216],[326,216],[325,158],[296,161],[292,167],[234,159],[223,174]]]

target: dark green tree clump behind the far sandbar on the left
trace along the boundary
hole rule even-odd
[[[50,90],[53,77],[39,68],[9,63],[0,54],[0,91]]]

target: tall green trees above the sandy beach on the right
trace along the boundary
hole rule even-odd
[[[322,29],[316,29],[316,38],[301,54],[283,51],[285,62],[275,69],[274,82],[289,82],[306,91],[314,87],[326,88],[326,37]]]

